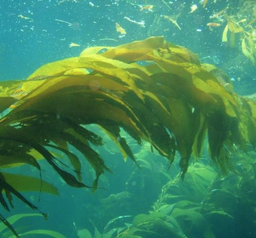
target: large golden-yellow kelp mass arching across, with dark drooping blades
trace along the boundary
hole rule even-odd
[[[230,168],[230,152],[256,144],[255,103],[235,94],[221,70],[201,65],[191,51],[162,37],[87,48],[79,57],[43,65],[25,81],[0,85],[0,165],[29,164],[40,171],[37,160],[44,157],[73,187],[90,186],[82,182],[81,158],[69,145],[95,170],[93,188],[110,170],[92,147],[103,140],[89,124],[100,126],[124,158],[136,161],[121,128],[170,162],[178,151],[182,177],[207,135],[210,157],[222,170]],[[53,151],[67,155],[73,168]],[[3,173],[0,180],[10,204],[11,193],[23,199],[15,180]],[[0,201],[8,209],[3,196]]]

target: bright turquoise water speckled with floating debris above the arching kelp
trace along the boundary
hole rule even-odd
[[[203,9],[200,1],[171,1],[168,8],[162,1],[2,1],[0,76],[2,80],[26,78],[40,65],[78,55],[89,46],[117,46],[151,36],[164,36],[168,41],[185,46],[207,63],[221,67],[234,78],[234,84],[243,93],[253,93],[255,67],[241,55],[241,47],[230,49],[221,42],[225,22],[221,27],[210,29],[207,23],[214,12],[228,4],[234,12],[239,1],[209,1]],[[230,2],[230,3],[229,3]],[[197,10],[191,12],[191,6]],[[153,5],[151,11],[140,11],[140,5]],[[19,15],[29,17],[26,20]],[[164,15],[175,16],[181,30]],[[145,27],[129,22],[145,22]],[[69,22],[61,22],[61,21]],[[115,23],[126,29],[125,37],[119,38]],[[110,38],[113,40],[104,40]],[[69,48],[71,42],[80,47]],[[237,45],[239,45],[237,39]],[[238,58],[237,58],[238,57]],[[236,61],[234,60],[236,59]],[[238,82],[237,78],[241,81]]]

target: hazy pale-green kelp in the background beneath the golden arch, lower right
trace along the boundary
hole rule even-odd
[[[95,227],[85,237],[255,237],[255,159],[234,160],[238,173],[225,177],[209,164],[189,166],[185,181],[178,175],[163,186],[149,213],[115,217],[104,233]]]

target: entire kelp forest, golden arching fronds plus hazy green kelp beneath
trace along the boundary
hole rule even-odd
[[[89,47],[0,85],[2,237],[63,238],[16,228],[51,216],[26,194],[57,195],[49,174],[92,197],[105,192],[105,174],[115,177],[100,153],[108,141],[133,164],[127,183],[140,186],[102,199],[104,213],[94,208],[77,237],[255,237],[255,95],[237,95],[222,70],[189,49],[163,37]],[[147,210],[134,208],[145,197]],[[18,200],[31,213],[15,214]]]

